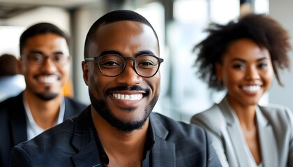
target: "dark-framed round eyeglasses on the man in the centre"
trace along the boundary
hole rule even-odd
[[[123,57],[118,54],[105,54],[91,58],[84,58],[84,61],[96,61],[98,69],[107,77],[116,77],[123,72],[126,67],[126,61],[133,61],[135,72],[141,77],[153,77],[159,70],[163,58],[153,55],[142,54],[135,57]]]

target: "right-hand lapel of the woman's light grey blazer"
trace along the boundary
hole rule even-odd
[[[259,107],[257,107],[256,111],[262,164],[268,167],[278,166],[278,148],[276,147],[277,142],[273,127],[269,125],[269,121],[264,117]]]

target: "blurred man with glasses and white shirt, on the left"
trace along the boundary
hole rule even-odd
[[[20,37],[18,70],[24,92],[0,104],[0,166],[8,166],[10,150],[22,141],[80,113],[86,106],[63,97],[70,70],[66,33],[49,23],[35,24]]]

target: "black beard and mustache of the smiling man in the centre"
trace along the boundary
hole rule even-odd
[[[143,90],[140,88],[140,86],[133,86],[131,88],[127,86],[119,86],[116,88],[112,88],[111,90],[107,90],[105,95],[109,95],[109,92],[112,90]],[[146,96],[149,95],[149,90],[147,90]],[[149,118],[149,114],[151,114],[151,111],[153,110],[153,107],[155,106],[156,102],[158,101],[158,95],[153,97],[151,102],[146,106],[144,109],[144,113],[142,118],[140,120],[121,120],[114,116],[112,111],[109,109],[109,106],[107,106],[106,102],[104,100],[97,100],[91,91],[89,90],[89,97],[91,100],[91,105],[93,108],[102,116],[112,127],[117,128],[121,132],[133,132],[136,129],[141,129],[144,125],[144,122],[146,122],[147,118]],[[127,109],[128,111],[124,112],[131,112],[135,110],[135,108]]]

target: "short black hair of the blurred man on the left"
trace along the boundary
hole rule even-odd
[[[57,26],[47,22],[40,22],[38,24],[33,24],[27,30],[25,30],[20,36],[20,54],[22,54],[22,49],[26,45],[27,39],[35,35],[45,34],[45,33],[54,33],[60,35],[66,39],[68,48],[70,47],[69,35],[59,29]]]

